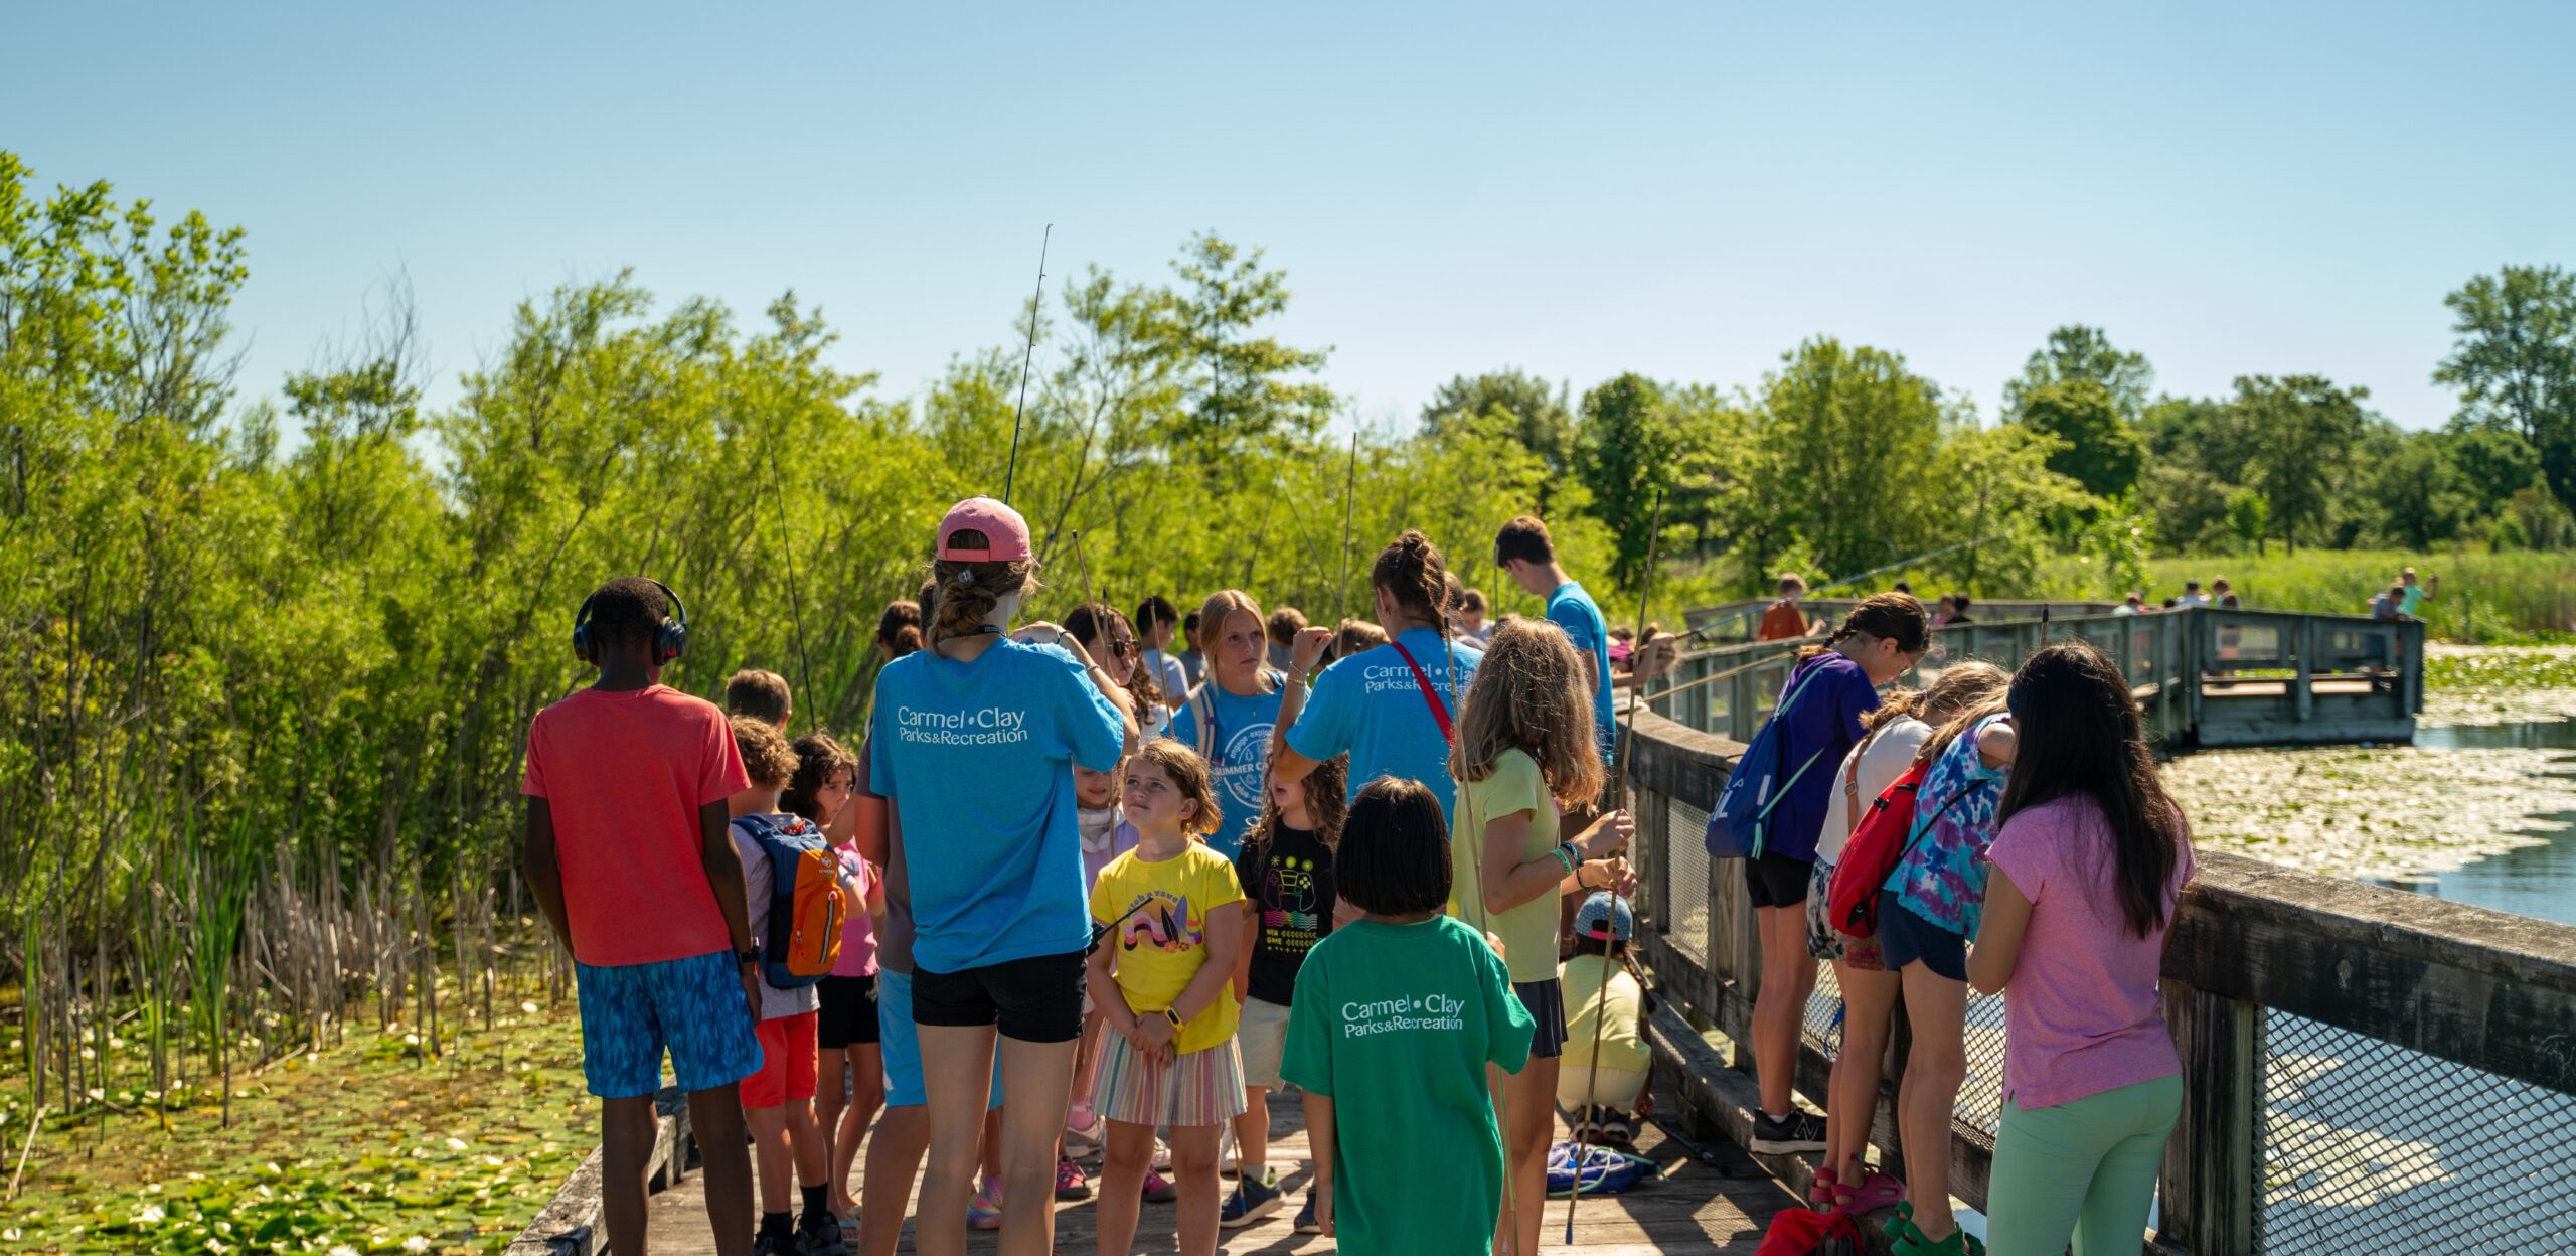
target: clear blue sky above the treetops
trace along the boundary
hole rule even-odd
[[[36,5],[0,147],[250,229],[242,386],[410,275],[433,399],[634,265],[822,304],[914,394],[1051,270],[1262,245],[1368,422],[1453,373],[1754,383],[1801,337],[1991,414],[2061,322],[2159,386],[2442,422],[2442,293],[2576,265],[2576,5]]]

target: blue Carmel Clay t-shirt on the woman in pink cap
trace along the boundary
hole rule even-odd
[[[1069,764],[1108,772],[1121,749],[1118,708],[1061,646],[1002,638],[974,661],[925,649],[876,674],[868,788],[902,813],[914,968],[1090,945]]]

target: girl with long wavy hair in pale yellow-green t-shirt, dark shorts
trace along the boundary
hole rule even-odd
[[[1450,777],[1458,780],[1450,916],[1502,939],[1512,993],[1538,1022],[1530,1066],[1492,1076],[1507,1117],[1502,1150],[1512,1174],[1494,1223],[1494,1251],[1538,1251],[1548,1140],[1556,1132],[1556,1058],[1566,1048],[1556,906],[1566,893],[1615,888],[1620,873],[1610,854],[1636,829],[1625,811],[1607,811],[1574,839],[1558,834],[1558,811],[1589,808],[1605,785],[1592,736],[1592,679],[1564,628],[1520,618],[1494,628],[1484,667],[1461,703]]]

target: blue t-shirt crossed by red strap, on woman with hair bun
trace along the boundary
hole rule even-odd
[[[1406,628],[1396,641],[1352,654],[1314,677],[1314,695],[1288,728],[1288,749],[1316,762],[1350,754],[1350,798],[1378,777],[1419,780],[1440,798],[1440,813],[1455,824],[1458,782],[1448,775],[1448,736],[1440,734],[1440,721],[1432,718],[1422,685],[1414,685],[1414,669],[1404,667],[1396,646],[1414,654],[1414,664],[1455,726],[1484,651],[1466,641],[1445,646],[1430,628]],[[1448,672],[1450,651],[1458,654],[1455,679]]]

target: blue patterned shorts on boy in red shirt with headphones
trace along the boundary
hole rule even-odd
[[[659,1091],[665,1050],[683,1091],[729,1086],[760,1068],[760,1037],[732,952],[574,963],[572,983],[582,1004],[582,1078],[600,1099]]]

